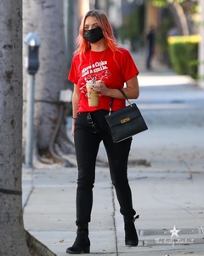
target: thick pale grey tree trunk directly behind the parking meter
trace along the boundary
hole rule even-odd
[[[65,103],[59,101],[60,90],[67,86],[65,59],[65,31],[63,1],[24,0],[24,38],[31,31],[41,38],[40,67],[35,85],[35,142],[37,152],[56,156],[57,145],[63,154],[73,154],[73,145],[67,137]],[[26,45],[24,45],[24,56]],[[27,73],[24,69],[24,99],[26,102]],[[26,116],[26,104],[24,117]],[[26,143],[26,119],[24,120],[24,147]]]

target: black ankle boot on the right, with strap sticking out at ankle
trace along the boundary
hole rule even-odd
[[[134,226],[135,219],[139,218],[137,215],[135,218],[124,216],[124,229],[125,229],[125,244],[127,247],[137,247],[139,238]]]

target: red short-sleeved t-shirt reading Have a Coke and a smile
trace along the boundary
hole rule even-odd
[[[124,83],[138,75],[139,70],[127,49],[120,48],[115,53],[111,49],[95,52],[88,50],[82,56],[82,63],[79,55],[75,55],[68,79],[77,84],[79,89],[79,102],[77,112],[91,112],[99,109],[109,110],[111,97],[99,95],[99,106],[88,107],[88,96],[86,83],[93,80],[103,80],[109,88],[123,88]],[[114,98],[112,110],[125,107],[124,99]]]

